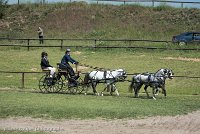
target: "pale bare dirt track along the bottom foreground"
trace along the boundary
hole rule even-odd
[[[200,134],[200,111],[175,117],[149,117],[124,120],[44,120],[33,118],[0,119],[1,130],[46,131],[59,134]]]

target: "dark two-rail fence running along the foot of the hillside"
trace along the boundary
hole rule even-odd
[[[40,44],[40,45],[31,45],[31,41],[36,41],[39,39],[36,38],[0,38],[0,41],[2,40],[7,40],[7,41],[12,41],[12,40],[18,40],[18,41],[26,41],[26,45],[19,45],[19,44],[0,44],[0,47],[9,47],[9,46],[18,46],[18,47],[27,47],[28,51],[30,48],[33,47],[57,47],[63,49],[64,47],[70,47],[70,48],[93,48],[93,49],[98,49],[98,48],[135,48],[135,49],[160,49],[160,50],[193,50],[193,51],[200,51],[200,48],[166,48],[166,47],[150,47],[150,46],[105,46],[105,45],[98,45],[98,42],[128,42],[131,44],[131,42],[149,42],[149,43],[165,43],[166,45],[169,43],[173,43],[172,41],[168,40],[147,40],[147,39],[64,39],[64,38],[57,38],[57,39],[51,39],[51,38],[46,38],[43,40],[55,40],[60,42],[60,45],[47,45],[47,44]],[[64,41],[91,41],[92,45],[63,45]],[[194,41],[195,42],[195,41]]]

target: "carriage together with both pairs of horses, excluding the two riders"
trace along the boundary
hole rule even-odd
[[[70,78],[67,70],[62,70],[57,68],[57,73],[55,73],[54,77],[51,78],[49,72],[46,72],[44,76],[42,76],[39,80],[39,89],[41,92],[46,93],[57,93],[57,92],[67,92],[67,93],[82,93],[85,92],[85,95],[88,92],[88,89],[92,87],[93,93],[95,95],[103,96],[103,92],[110,87],[110,94],[116,92],[116,95],[119,96],[119,92],[116,88],[117,82],[124,82],[127,74],[123,69],[117,69],[112,71],[102,71],[95,70],[89,73],[86,73],[84,78],[79,77],[77,80]],[[169,78],[173,78],[173,72],[170,69],[159,69],[156,73],[141,73],[133,75],[131,84],[129,86],[130,90],[134,91],[135,97],[138,97],[138,93],[142,85],[145,85],[144,89],[149,97],[147,92],[147,87],[152,88],[152,97],[156,99],[156,94],[159,91],[159,88],[162,89],[164,96],[166,96],[165,89],[165,80]],[[71,86],[71,82],[73,81],[73,86]],[[99,83],[104,83],[105,88],[99,94],[96,90],[96,86]]]

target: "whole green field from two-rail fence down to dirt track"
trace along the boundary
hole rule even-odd
[[[3,71],[40,71],[40,53],[43,49],[10,49],[0,51],[0,64]],[[49,60],[56,65],[64,51],[45,49]],[[75,50],[71,55],[80,63],[110,69],[123,68],[127,73],[156,72],[160,68],[171,68],[178,76],[200,76],[198,61],[167,60],[166,57],[198,59],[198,52],[161,51],[161,50]],[[5,60],[9,59],[9,60]],[[87,72],[91,69],[86,69]],[[141,97],[133,98],[128,93],[130,83],[118,83],[120,97],[93,95],[41,94],[38,91],[38,80],[41,74],[25,76],[26,89],[20,87],[19,74],[0,75],[0,117],[31,116],[36,118],[141,118],[156,115],[185,114],[200,108],[199,79],[177,78],[167,80],[167,98],[161,94],[157,101],[147,99],[141,89]],[[131,79],[129,76],[127,79]],[[9,87],[9,88],[5,88]],[[101,91],[99,84],[97,90]],[[6,90],[6,91],[5,91]],[[21,92],[22,91],[22,92]],[[151,90],[149,90],[151,92]],[[92,91],[90,91],[92,93]]]

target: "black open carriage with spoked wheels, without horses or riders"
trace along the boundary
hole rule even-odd
[[[45,75],[39,80],[39,89],[43,93],[58,93],[62,91],[75,94],[77,92],[81,93],[84,90],[82,78],[79,77],[77,80],[70,78],[67,70],[59,68],[59,63],[57,64],[57,72],[53,77],[50,77],[49,70],[43,71]],[[70,84],[72,81],[73,86]]]

